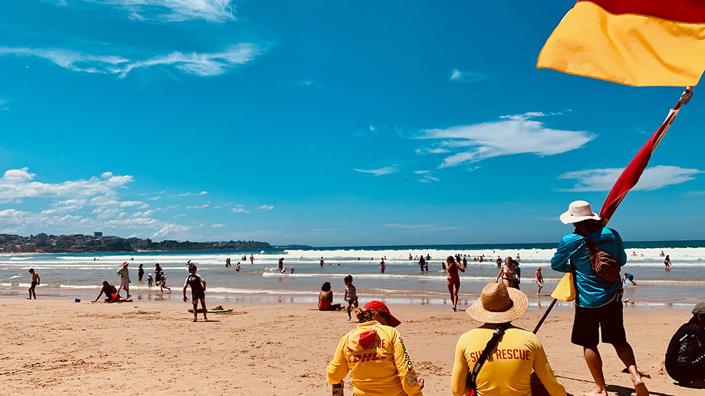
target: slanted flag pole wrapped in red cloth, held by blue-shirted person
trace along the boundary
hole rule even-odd
[[[675,106],[673,107],[673,110],[671,110],[668,113],[668,117],[666,118],[666,121],[663,122],[663,124],[661,125],[661,128],[658,128],[658,130],[656,130],[654,135],[651,137],[650,140],[653,140],[652,145],[650,147],[651,151],[654,151],[656,149],[658,144],[661,142],[661,139],[663,139],[663,135],[666,135],[668,128],[670,128],[670,125],[673,124],[673,120],[675,120],[675,116],[678,115],[678,111],[680,111],[680,108],[684,104],[687,104],[692,97],[693,97],[693,87],[685,87],[685,92],[683,92],[680,95],[680,99],[678,99],[678,103],[676,103]],[[639,153],[637,153],[637,156],[635,157],[635,159],[632,159],[632,162],[630,162],[630,164],[629,164],[630,166],[632,166],[632,163],[635,162],[635,160],[637,159],[637,157],[639,157],[640,154],[642,154],[642,151],[644,151],[645,147],[646,147],[646,145],[644,147],[642,147],[641,150],[639,150]],[[644,161],[642,172],[644,171],[644,168],[646,168],[646,163],[648,163],[650,158],[651,158],[651,152],[649,152],[649,155],[646,156],[645,160],[642,159],[642,161]],[[629,166],[627,166],[627,168],[629,168]],[[627,192],[629,190],[631,190],[631,188],[637,184],[637,182],[639,181],[639,176],[641,176],[641,173],[639,173],[637,175],[636,180],[633,182],[633,184],[630,187],[627,188],[626,191],[619,194],[618,197],[612,197],[613,194],[615,193],[615,187],[617,187],[618,182],[620,182],[623,175],[624,175],[624,173],[622,175],[620,175],[620,178],[618,178],[617,182],[615,182],[615,186],[612,187],[612,190],[610,191],[610,193],[607,196],[607,199],[605,200],[604,204],[602,205],[602,210],[600,211],[600,215],[602,217],[602,225],[603,226],[606,226],[608,221],[610,221],[612,214],[617,209],[617,206],[619,206],[619,204],[622,203],[623,199],[627,195]],[[612,199],[611,199],[611,197],[612,197]],[[607,214],[607,215],[603,216],[603,214]],[[555,293],[555,291],[554,291],[554,293]],[[570,300],[566,300],[566,301],[570,301]],[[537,323],[536,328],[534,328],[534,334],[539,332],[539,328],[541,328],[541,325],[543,325],[544,321],[546,321],[548,314],[551,313],[551,309],[553,309],[553,306],[556,305],[556,302],[558,302],[558,299],[554,297],[553,301],[551,302],[551,305],[549,305],[548,308],[546,309],[544,316],[541,316],[539,323]]]

